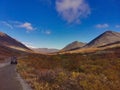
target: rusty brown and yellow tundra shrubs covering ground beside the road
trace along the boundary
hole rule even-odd
[[[120,90],[120,48],[28,54],[19,60],[17,70],[34,90]]]

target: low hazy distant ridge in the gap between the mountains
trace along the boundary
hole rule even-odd
[[[54,53],[59,51],[58,49],[48,49],[48,48],[32,48],[32,50],[37,53],[44,53],[44,54]]]

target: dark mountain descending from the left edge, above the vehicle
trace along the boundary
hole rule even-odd
[[[7,34],[5,34],[3,32],[0,32],[0,45],[14,48],[14,49],[23,50],[23,51],[30,50],[24,44],[15,40],[14,38],[8,36]]]

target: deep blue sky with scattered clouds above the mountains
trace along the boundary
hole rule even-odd
[[[0,0],[0,31],[29,47],[62,49],[120,32],[120,0]]]

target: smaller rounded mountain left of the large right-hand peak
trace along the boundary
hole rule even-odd
[[[61,51],[75,50],[75,49],[83,47],[84,45],[86,45],[86,43],[74,41],[68,44],[66,47],[64,47]]]

